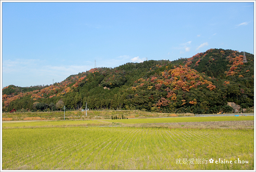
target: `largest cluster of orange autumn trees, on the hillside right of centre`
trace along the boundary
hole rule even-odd
[[[186,66],[186,65],[185,65]],[[192,88],[198,88],[199,85],[206,85],[206,88],[210,91],[216,89],[216,86],[212,82],[204,79],[196,70],[190,67],[179,66],[171,70],[165,70],[161,72],[159,77],[153,76],[151,82],[157,82],[155,84],[155,89],[161,91],[162,83],[167,87],[164,91],[167,92],[166,97],[158,99],[156,107],[158,109],[167,107],[174,107],[175,103],[180,104],[180,106],[186,105],[186,100],[180,99],[180,95],[177,94],[178,90],[183,92],[189,92]],[[178,98],[179,97],[179,98]],[[180,102],[180,103],[179,103]],[[189,105],[196,105],[196,99],[188,101]]]

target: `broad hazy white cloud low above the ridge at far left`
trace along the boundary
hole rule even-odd
[[[71,74],[90,70],[85,65],[48,65],[39,59],[15,59],[3,61],[3,86],[16,85],[21,87],[52,84],[65,80]],[[15,79],[13,78],[15,75]]]

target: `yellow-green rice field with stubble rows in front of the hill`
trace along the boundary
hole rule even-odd
[[[2,169],[253,170],[253,126],[172,125],[253,120],[223,116],[2,123]],[[161,123],[164,127],[150,125]]]

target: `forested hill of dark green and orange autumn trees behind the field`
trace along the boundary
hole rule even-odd
[[[3,112],[140,109],[169,113],[230,111],[254,106],[254,55],[210,49],[175,61],[148,60],[93,68],[50,86],[3,89]]]

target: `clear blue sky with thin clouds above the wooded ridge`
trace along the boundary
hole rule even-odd
[[[211,48],[254,54],[254,3],[1,2],[2,87]]]

